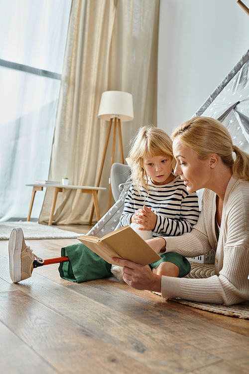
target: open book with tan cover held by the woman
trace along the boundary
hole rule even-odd
[[[113,265],[119,264],[112,257],[124,258],[141,265],[151,264],[161,258],[130,226],[112,231],[101,239],[82,235],[78,240]]]

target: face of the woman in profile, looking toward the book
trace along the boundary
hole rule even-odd
[[[184,147],[177,138],[173,141],[173,154],[176,159],[174,174],[181,177],[188,192],[210,187],[210,159],[199,160],[197,153]]]

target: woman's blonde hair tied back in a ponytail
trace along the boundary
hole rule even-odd
[[[178,126],[171,137],[192,148],[200,160],[216,153],[236,177],[249,181],[249,154],[233,145],[229,131],[214,118],[192,118]]]

